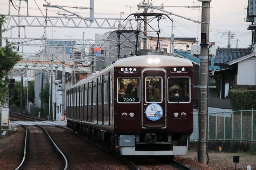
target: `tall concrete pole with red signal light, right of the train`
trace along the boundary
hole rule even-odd
[[[199,106],[198,106],[198,162],[207,163],[207,84],[208,84],[208,44],[209,44],[209,22],[210,1],[202,1],[201,36],[206,34],[205,42],[200,43],[200,70],[199,70]],[[202,37],[201,37],[202,39]]]

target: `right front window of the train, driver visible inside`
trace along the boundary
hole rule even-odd
[[[170,103],[190,102],[190,78],[168,78],[168,101]]]

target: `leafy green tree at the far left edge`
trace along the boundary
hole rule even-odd
[[[6,16],[0,15],[0,27],[6,23]],[[2,31],[3,32],[3,31]],[[22,59],[21,55],[18,55],[16,47],[13,43],[6,42],[6,46],[2,47],[2,41],[0,45],[0,101],[5,100],[6,92],[8,90],[7,82],[3,79],[8,78],[8,74],[18,61]]]

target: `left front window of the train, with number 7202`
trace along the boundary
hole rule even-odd
[[[118,102],[139,103],[140,102],[140,79],[118,78],[117,80]]]

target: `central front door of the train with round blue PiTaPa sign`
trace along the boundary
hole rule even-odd
[[[166,127],[166,71],[145,69],[143,75],[143,128]]]

